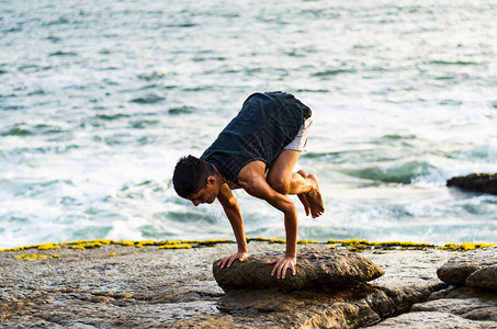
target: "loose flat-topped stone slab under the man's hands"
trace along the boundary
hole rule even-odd
[[[323,290],[343,288],[380,277],[384,272],[372,261],[349,251],[302,249],[298,252],[296,275],[290,269],[284,280],[271,275],[269,261],[280,253],[256,254],[230,268],[213,263],[214,277],[225,291],[235,288]]]

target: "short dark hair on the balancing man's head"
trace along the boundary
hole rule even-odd
[[[172,184],[181,197],[189,197],[205,186],[208,175],[214,174],[214,167],[193,156],[182,157],[176,163]]]

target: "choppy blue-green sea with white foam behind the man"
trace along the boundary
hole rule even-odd
[[[496,242],[495,1],[0,0],[0,247],[231,238],[221,206],[176,196],[255,91],[313,109],[298,168],[326,213],[302,239]],[[247,235],[282,215],[237,191]],[[292,196],[293,197],[293,196]],[[293,197],[296,202],[297,198]]]

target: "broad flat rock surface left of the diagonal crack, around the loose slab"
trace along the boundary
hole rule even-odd
[[[251,253],[284,250],[282,245],[259,241],[248,247]],[[371,284],[317,294],[307,298],[308,304],[305,293],[251,294],[252,300],[244,305],[237,294],[245,292],[225,295],[212,275],[212,262],[234,251],[235,243],[181,250],[111,245],[1,252],[0,327],[358,328],[421,304],[430,290],[441,287],[436,270],[460,254],[436,249],[368,250],[361,256],[385,272]],[[15,258],[21,253],[60,258],[26,261]]]

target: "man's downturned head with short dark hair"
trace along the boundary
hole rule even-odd
[[[193,156],[178,161],[172,184],[179,196],[192,201],[195,206],[200,203],[213,203],[218,192],[214,166]]]

